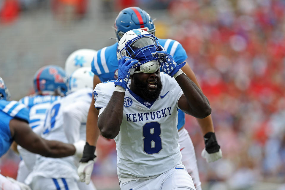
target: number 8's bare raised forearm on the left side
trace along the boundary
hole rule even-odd
[[[113,139],[119,131],[124,112],[124,92],[114,91],[108,105],[98,120],[98,127],[103,137]]]

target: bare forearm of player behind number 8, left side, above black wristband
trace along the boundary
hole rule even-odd
[[[96,146],[100,130],[98,128],[99,111],[94,107],[94,100],[91,102],[86,122],[86,141],[89,145]]]

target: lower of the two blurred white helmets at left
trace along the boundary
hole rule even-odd
[[[69,92],[74,92],[82,88],[93,88],[94,73],[90,67],[81,67],[73,72],[69,79]]]

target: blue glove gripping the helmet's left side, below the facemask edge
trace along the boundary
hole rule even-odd
[[[121,59],[118,60],[118,79],[117,81],[114,83],[115,86],[119,85],[123,88],[127,88],[127,84],[129,82],[129,78],[130,78],[130,72],[131,72],[131,68],[132,66],[134,66],[135,64],[137,64],[139,61],[136,59],[132,59],[130,57],[123,57]]]

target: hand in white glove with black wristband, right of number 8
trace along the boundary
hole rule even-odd
[[[214,162],[222,157],[222,151],[216,140],[216,135],[213,132],[208,132],[204,135],[205,148],[203,149],[201,156],[206,161]]]

